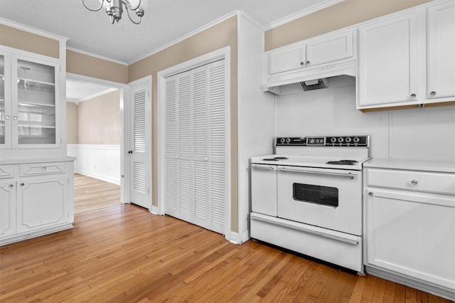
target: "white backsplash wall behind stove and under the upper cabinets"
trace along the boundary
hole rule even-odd
[[[363,113],[355,85],[277,97],[278,137],[343,134],[370,134],[375,158],[455,161],[455,106]]]

